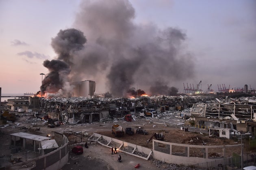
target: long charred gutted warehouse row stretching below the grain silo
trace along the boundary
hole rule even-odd
[[[70,97],[43,101],[43,109],[49,118],[69,123],[92,123],[104,118],[122,118],[126,114],[139,114],[142,109],[157,112],[182,110],[199,102],[202,97],[152,96],[130,98]]]

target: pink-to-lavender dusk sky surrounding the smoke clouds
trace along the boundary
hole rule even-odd
[[[68,28],[81,30],[90,43],[92,37],[90,30],[82,28],[83,24],[79,23],[77,17],[81,10],[81,1],[0,0],[2,94],[35,93],[40,90],[42,78],[40,73],[49,72],[43,66],[43,61],[56,58],[57,54],[51,42],[60,30]],[[96,0],[91,2],[94,1]],[[108,1],[104,1],[106,2]],[[132,24],[137,28],[164,30],[172,27],[186,35],[179,49],[189,54],[190,58],[179,61],[181,65],[180,62],[186,63],[184,64],[186,69],[180,71],[190,73],[189,62],[191,62],[193,75],[184,76],[177,81],[172,78],[168,86],[174,86],[183,93],[183,83],[196,86],[202,80],[203,91],[206,90],[207,84],[212,84],[215,92],[218,90],[217,84],[225,84],[227,88],[229,85],[230,88],[243,88],[248,84],[256,88],[255,0],[130,0],[129,2],[135,11]],[[83,6],[85,7],[86,4],[84,3]],[[147,36],[150,37],[151,34]],[[161,67],[170,63],[165,62]],[[88,76],[85,74],[82,80],[93,80],[93,77],[89,76],[90,73],[87,74]],[[100,80],[95,78],[94,81],[95,93],[108,91],[104,77]],[[133,86],[144,89],[145,84],[134,82]],[[146,89],[145,91],[147,93]]]

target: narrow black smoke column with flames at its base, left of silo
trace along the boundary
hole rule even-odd
[[[49,70],[42,82],[42,91],[46,98],[67,97],[73,90],[69,78],[72,71],[72,60],[76,56],[75,53],[83,49],[85,42],[84,34],[74,28],[60,30],[57,36],[52,39],[52,47],[58,57],[56,60],[43,62],[43,66]]]

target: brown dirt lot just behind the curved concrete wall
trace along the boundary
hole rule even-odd
[[[126,125],[127,126],[127,125]],[[137,125],[131,125],[131,127],[136,131],[139,126]],[[115,137],[114,134],[111,133],[111,131],[106,130],[97,130],[95,133],[102,134],[104,136],[108,136],[111,138],[116,138],[119,140],[123,140],[132,144],[137,144],[140,146],[144,146],[147,148],[152,149],[152,140],[147,143],[147,140],[151,138],[151,136],[154,133],[163,133],[165,142],[171,142],[171,143],[178,143],[178,144],[191,144],[191,145],[205,145],[205,146],[223,146],[223,145],[235,145],[240,144],[240,142],[237,141],[237,138],[234,139],[220,139],[220,138],[210,138],[208,131],[205,129],[195,129],[195,128],[189,128],[189,131],[180,130],[180,127],[168,127],[157,123],[152,124],[144,124],[143,126],[140,126],[140,128],[143,128],[148,131],[148,135],[142,135],[142,134],[134,134],[134,135],[128,135],[124,134],[122,137]],[[153,137],[152,139],[155,139]],[[243,141],[245,144],[244,151],[246,152],[249,148],[247,148],[248,144],[247,141]],[[194,153],[194,155],[200,155],[201,151],[198,151],[199,153]],[[212,155],[219,155],[219,152],[222,153],[222,151],[211,151]],[[241,153],[241,147],[237,147],[232,150],[228,150],[228,155],[232,155],[232,153]]]

